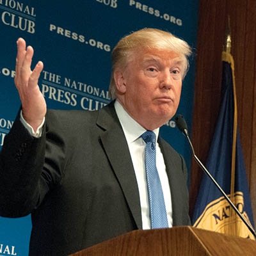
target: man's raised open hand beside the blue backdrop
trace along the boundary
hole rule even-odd
[[[22,115],[34,131],[38,128],[46,114],[46,102],[44,95],[40,92],[38,79],[44,68],[42,61],[38,61],[35,68],[31,70],[33,58],[33,47],[26,47],[23,38],[17,40],[17,58],[15,85],[19,91],[22,104]]]

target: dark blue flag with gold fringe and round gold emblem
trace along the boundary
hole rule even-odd
[[[237,131],[234,60],[223,52],[222,102],[206,168],[244,218],[253,214],[239,132]],[[212,181],[204,175],[193,212],[193,226],[255,239]]]

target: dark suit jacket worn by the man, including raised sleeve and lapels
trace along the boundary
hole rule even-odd
[[[138,186],[113,102],[99,111],[47,111],[42,138],[19,118],[0,157],[1,216],[31,213],[30,255],[67,255],[142,228]],[[159,138],[173,225],[189,225],[184,159]]]

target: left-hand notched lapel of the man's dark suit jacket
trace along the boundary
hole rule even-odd
[[[129,147],[118,121],[113,103],[99,111],[97,125],[105,131],[100,135],[102,145],[138,228],[142,228],[140,195]]]

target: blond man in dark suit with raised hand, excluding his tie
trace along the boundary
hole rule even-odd
[[[33,48],[17,41],[15,84],[22,111],[0,155],[0,214],[31,213],[30,255],[67,255],[138,228],[150,228],[141,134],[177,110],[188,69],[186,42],[158,29],[125,36],[113,50],[113,102],[99,111],[46,108],[31,71]],[[189,225],[187,170],[156,143],[168,227]]]

